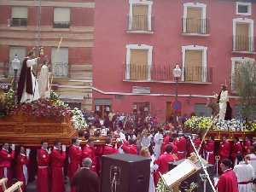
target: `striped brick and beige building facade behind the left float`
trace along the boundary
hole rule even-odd
[[[61,98],[90,109],[94,12],[93,0],[1,1],[1,81],[13,78],[16,54],[22,61],[32,47],[43,46]]]

